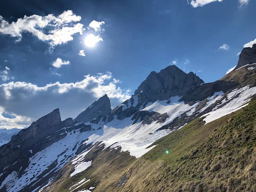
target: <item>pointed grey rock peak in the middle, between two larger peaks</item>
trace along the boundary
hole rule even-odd
[[[98,101],[93,102],[85,111],[81,112],[76,119],[76,122],[89,122],[98,116],[105,116],[111,112],[111,104],[108,95],[105,94]]]

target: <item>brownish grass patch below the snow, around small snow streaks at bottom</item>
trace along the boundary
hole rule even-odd
[[[90,179],[74,192],[81,189],[89,189],[91,186],[109,186],[112,179],[118,180],[122,173],[133,163],[136,158],[130,156],[129,152],[121,152],[121,148],[104,149],[104,145],[96,144],[86,155],[84,161],[92,160],[92,165],[86,171],[70,177],[73,172],[71,162],[67,163],[58,175],[55,177],[50,186],[50,192],[70,192],[70,187],[81,181],[83,178]],[[111,180],[110,180],[111,178]],[[48,191],[49,192],[49,191]]]

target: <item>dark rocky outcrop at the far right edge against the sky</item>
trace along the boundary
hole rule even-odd
[[[241,51],[241,54],[239,55],[239,61],[235,70],[243,67],[244,65],[253,63],[256,63],[256,44],[254,44],[252,48],[246,47]]]

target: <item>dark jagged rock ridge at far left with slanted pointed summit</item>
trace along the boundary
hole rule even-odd
[[[70,127],[74,124],[75,122],[72,118],[61,122],[59,109],[55,109],[36,122],[32,122],[28,128],[22,129],[19,133],[14,135],[9,143],[0,147],[0,168],[15,161],[24,151],[47,136],[55,133],[55,131],[63,127]]]

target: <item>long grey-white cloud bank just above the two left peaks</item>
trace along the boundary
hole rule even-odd
[[[60,108],[62,119],[74,118],[104,94],[108,94],[113,108],[129,99],[129,90],[122,90],[117,83],[120,81],[113,79],[110,72],[87,75],[76,83],[55,82],[43,87],[27,82],[9,82],[0,84],[0,106],[8,113],[29,117],[31,121],[55,108]]]

